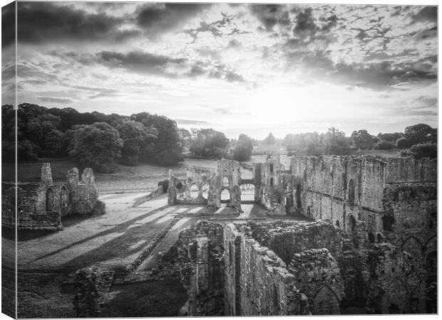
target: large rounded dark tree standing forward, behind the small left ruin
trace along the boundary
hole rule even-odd
[[[73,129],[69,156],[83,167],[112,172],[115,169],[113,161],[120,157],[124,144],[118,131],[106,122],[83,124]]]

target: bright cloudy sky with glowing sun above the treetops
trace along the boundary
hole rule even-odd
[[[157,113],[230,138],[437,126],[436,6],[58,1],[17,16],[18,103]]]

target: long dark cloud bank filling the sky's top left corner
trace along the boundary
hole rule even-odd
[[[103,12],[89,14],[51,2],[19,2],[17,6],[19,41],[123,41],[140,34],[134,28],[121,30],[125,20]]]

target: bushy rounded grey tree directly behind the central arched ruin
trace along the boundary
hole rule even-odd
[[[192,156],[205,159],[220,159],[226,156],[229,139],[214,129],[200,129],[190,145]]]

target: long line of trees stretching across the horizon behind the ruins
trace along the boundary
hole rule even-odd
[[[15,110],[1,107],[3,161],[14,161]],[[276,139],[270,133],[259,141],[246,134],[228,139],[215,129],[178,128],[175,121],[158,114],[140,112],[130,116],[78,112],[73,108],[46,108],[22,103],[17,111],[19,161],[69,156],[80,166],[111,172],[115,163],[173,165],[184,157],[230,158],[247,161],[259,144],[285,146],[289,154],[345,155],[357,149],[403,149],[404,155],[437,156],[437,129],[427,124],[406,127],[404,132],[369,134],[365,129],[351,137],[331,127],[326,133],[287,134]]]

